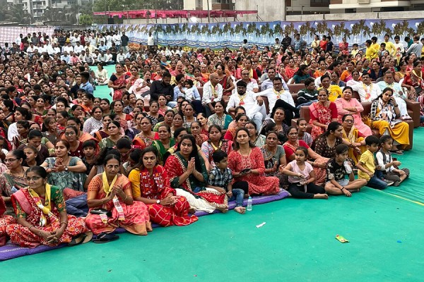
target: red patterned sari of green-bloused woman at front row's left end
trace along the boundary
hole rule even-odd
[[[35,228],[52,232],[60,228],[59,213],[66,212],[66,208],[64,196],[60,188],[51,186],[49,198],[52,207],[52,214],[49,216],[45,216],[37,206],[37,202],[45,204],[45,199],[33,197],[30,194],[29,188],[23,188],[15,192],[11,200],[18,219],[24,218],[28,223],[35,226]],[[42,222],[43,217],[45,218],[45,223]],[[47,243],[45,238],[35,235],[28,228],[18,223],[6,227],[6,233],[11,237],[11,242],[20,245],[20,247],[37,247],[38,245],[57,246],[61,243],[69,243],[74,236],[87,231],[88,228],[84,220],[70,214],[68,214],[68,225],[57,243]]]

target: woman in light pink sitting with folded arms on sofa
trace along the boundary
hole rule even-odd
[[[336,99],[338,122],[342,122],[341,119],[344,115],[351,114],[355,119],[355,128],[358,129],[359,133],[364,136],[370,136],[372,135],[371,128],[363,122],[360,116],[360,113],[364,111],[364,107],[358,99],[352,98],[352,94],[352,87],[346,86],[343,89],[341,98]]]

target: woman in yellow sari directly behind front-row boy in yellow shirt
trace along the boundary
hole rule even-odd
[[[362,135],[358,128],[355,128],[354,118],[351,114],[346,114],[341,118],[343,125],[343,139],[351,142],[349,146],[349,154],[348,157],[355,161],[355,164],[358,164],[360,159],[360,154],[366,151],[367,147],[365,147],[365,137]]]

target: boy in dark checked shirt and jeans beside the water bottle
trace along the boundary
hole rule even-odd
[[[206,187],[213,188],[218,192],[226,192],[230,198],[228,201],[235,200],[236,206],[234,210],[239,214],[244,214],[246,212],[246,208],[243,207],[245,191],[242,189],[232,189],[232,171],[227,167],[227,153],[221,150],[216,150],[212,154],[212,159],[216,166],[209,174],[208,185]]]

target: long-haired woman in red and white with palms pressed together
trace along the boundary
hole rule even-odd
[[[194,210],[208,213],[212,213],[215,209],[221,212],[228,211],[227,195],[206,188],[208,171],[192,135],[182,136],[177,152],[167,158],[165,170],[170,178],[171,187],[178,196],[186,197]]]

